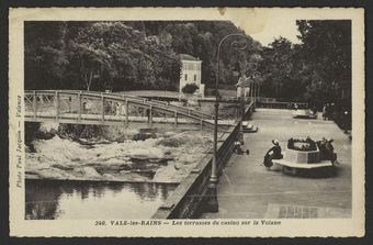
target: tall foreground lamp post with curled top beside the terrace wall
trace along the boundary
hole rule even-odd
[[[218,86],[218,80],[219,80],[219,59],[221,59],[221,46],[224,43],[224,41],[226,41],[229,37],[242,37],[245,40],[247,40],[247,36],[245,36],[244,34],[238,34],[238,33],[234,33],[234,34],[229,34],[224,36],[219,44],[217,45],[217,58],[216,58],[216,63],[217,63],[217,71],[216,71],[216,82],[215,82],[215,118],[214,118],[214,149],[213,149],[213,163],[212,163],[212,167],[211,167],[211,176],[210,176],[210,185],[208,185],[208,211],[212,213],[216,213],[218,212],[218,203],[217,203],[217,191],[216,191],[216,187],[217,187],[217,118],[218,118],[218,99],[219,99],[219,94],[218,94],[218,90],[217,90],[217,86]],[[238,49],[245,49],[247,47],[247,44],[244,47],[238,47],[237,46],[237,42],[233,42],[231,46],[238,48]]]

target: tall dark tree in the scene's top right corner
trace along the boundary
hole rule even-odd
[[[302,53],[314,79],[310,96],[323,93],[324,101],[351,97],[351,21],[297,21]]]

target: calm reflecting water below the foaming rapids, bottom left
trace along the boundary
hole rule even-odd
[[[177,185],[26,180],[25,219],[150,218]]]

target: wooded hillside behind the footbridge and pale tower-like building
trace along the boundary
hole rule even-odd
[[[179,88],[179,54],[202,60],[202,81],[215,82],[216,47],[230,22],[26,22],[25,88],[131,90]],[[260,46],[248,36],[249,52],[227,44],[221,53],[221,83],[231,86],[235,63],[245,66]]]

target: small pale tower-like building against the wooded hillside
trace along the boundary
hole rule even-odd
[[[204,94],[204,85],[201,82],[201,65],[202,60],[188,54],[180,54],[181,76],[179,83],[179,92],[188,83],[195,83],[199,87],[199,93]]]

